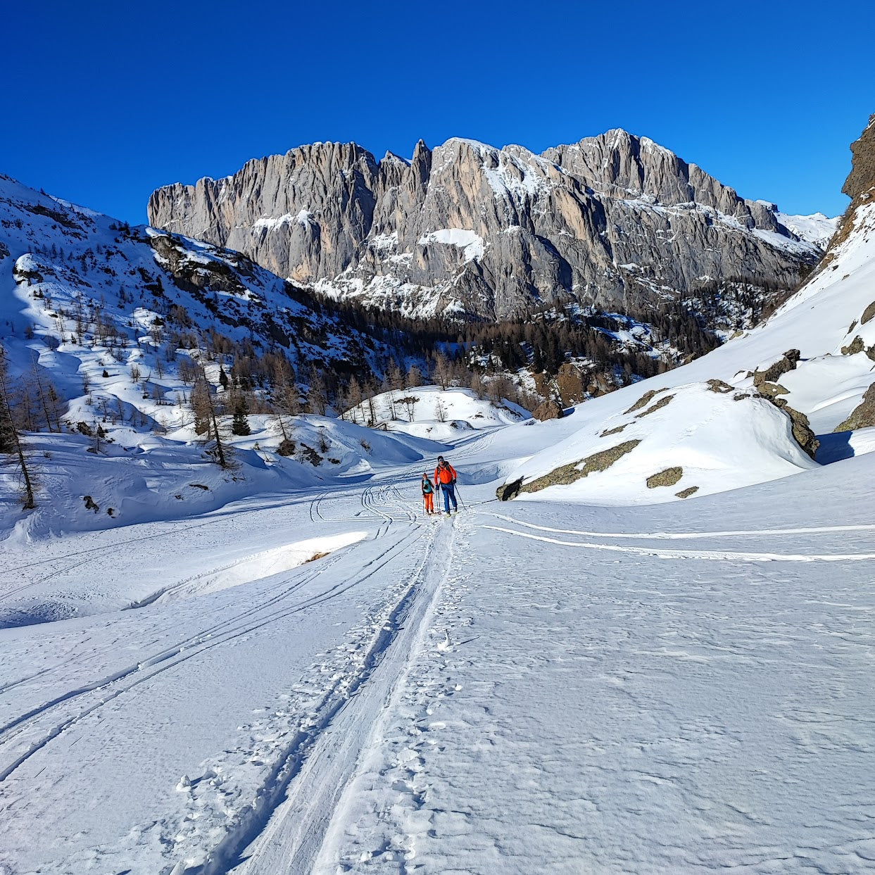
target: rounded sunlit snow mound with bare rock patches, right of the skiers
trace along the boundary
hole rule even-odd
[[[523,479],[523,495],[590,504],[666,501],[816,467],[796,443],[789,417],[760,395],[714,381],[643,397],[640,406],[606,418],[600,432],[578,430],[521,465],[513,476]]]

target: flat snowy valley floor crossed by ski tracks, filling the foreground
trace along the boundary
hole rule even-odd
[[[872,871],[875,456],[603,508],[491,447],[451,520],[410,465],[4,543],[0,872]]]

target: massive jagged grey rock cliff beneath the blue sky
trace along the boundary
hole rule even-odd
[[[720,278],[791,288],[822,253],[779,216],[623,130],[540,156],[451,139],[377,162],[356,144],[313,144],[149,201],[156,227],[297,283],[467,318],[568,298],[622,307]]]

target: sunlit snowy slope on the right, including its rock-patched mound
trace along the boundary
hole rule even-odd
[[[850,416],[875,379],[875,205],[861,204],[846,221],[823,268],[765,323],[689,365],[578,406],[575,433],[510,472],[507,483],[522,479],[525,488],[564,466],[570,466],[565,479],[579,478],[587,458],[603,451],[616,454],[632,436],[641,444],[627,448],[605,470],[588,472],[574,486],[547,486],[537,494],[573,493],[577,500],[597,502],[676,500],[685,497],[686,486],[714,492],[808,468],[789,418],[749,396],[758,394],[756,384],[807,416],[822,434]],[[795,354],[783,358],[791,350],[799,351],[798,361]],[[724,381],[726,394],[704,392],[710,380]],[[663,399],[672,396],[668,407],[647,418],[627,415],[655,390],[665,390]],[[605,434],[623,423],[634,425]],[[597,459],[589,467],[607,461]],[[684,470],[677,489],[648,489],[648,477],[673,467]]]

